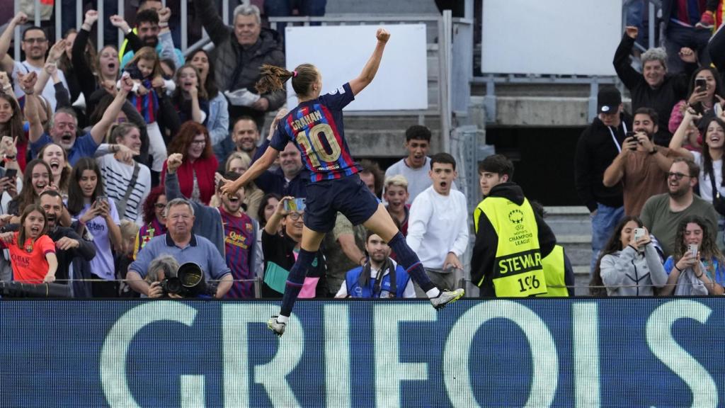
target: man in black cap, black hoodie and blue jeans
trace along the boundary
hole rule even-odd
[[[574,156],[574,184],[579,198],[592,214],[592,263],[624,215],[622,185],[602,184],[604,172],[622,150],[631,116],[624,112],[619,91],[610,86],[597,94],[597,118],[579,136]]]

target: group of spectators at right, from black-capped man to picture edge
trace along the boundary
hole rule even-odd
[[[602,89],[577,144],[594,295],[723,293],[722,2],[684,3],[662,2],[666,46],[638,55],[641,73],[631,63],[641,25],[628,14],[613,64],[634,117],[618,90]]]

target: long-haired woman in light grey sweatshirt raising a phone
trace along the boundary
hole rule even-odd
[[[592,278],[592,295],[652,296],[654,287],[663,287],[667,274],[652,244],[650,233],[636,216],[619,221],[614,234],[602,249]]]

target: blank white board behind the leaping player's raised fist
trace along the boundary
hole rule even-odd
[[[287,27],[287,69],[314,64],[322,73],[323,94],[357,78],[377,44],[379,25]],[[390,40],[373,83],[346,110],[428,109],[426,25],[386,25]],[[291,81],[288,106],[297,106]]]

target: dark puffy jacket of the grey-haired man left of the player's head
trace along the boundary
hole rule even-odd
[[[199,20],[215,46],[211,57],[214,60],[217,86],[222,91],[247,88],[256,93],[254,84],[260,78],[263,64],[284,67],[281,38],[276,31],[262,28],[257,43],[244,49],[236,40],[233,28],[225,25],[219,17],[215,4],[215,1],[194,1]],[[286,101],[284,89],[262,96],[269,101],[268,110],[277,110]]]

